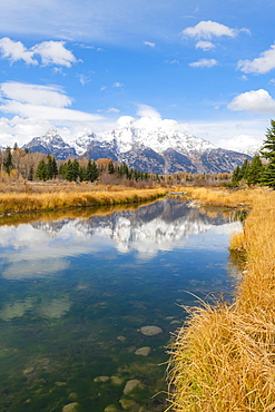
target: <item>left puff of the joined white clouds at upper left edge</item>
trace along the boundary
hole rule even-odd
[[[23,60],[27,65],[38,65],[33,51],[28,51],[21,41],[12,41],[8,37],[0,39],[0,52],[3,59],[14,61]]]

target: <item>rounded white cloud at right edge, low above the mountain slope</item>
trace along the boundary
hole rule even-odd
[[[275,100],[264,89],[251,90],[236,96],[227,107],[234,111],[244,110],[257,114],[274,114]]]

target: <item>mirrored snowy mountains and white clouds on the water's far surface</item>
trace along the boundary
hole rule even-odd
[[[151,259],[160,251],[210,248],[219,236],[239,229],[217,214],[209,217],[185,203],[165,199],[137,210],[90,218],[58,218],[0,227],[0,259],[7,279],[43,278],[68,268],[72,256],[107,254],[112,249]],[[212,233],[212,243],[204,233]],[[198,235],[200,236],[198,237]],[[208,236],[208,235],[207,235]]]

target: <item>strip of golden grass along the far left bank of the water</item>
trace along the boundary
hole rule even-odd
[[[49,188],[48,188],[49,190]],[[92,188],[86,192],[51,190],[43,193],[0,193],[0,215],[33,210],[53,210],[70,207],[108,206],[154,200],[168,189],[129,189],[125,187]]]

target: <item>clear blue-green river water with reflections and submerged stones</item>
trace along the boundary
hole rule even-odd
[[[180,305],[234,284],[227,247],[240,224],[212,215],[167,198],[1,226],[0,410],[163,412]]]

